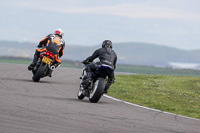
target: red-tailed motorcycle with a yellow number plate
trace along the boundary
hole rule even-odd
[[[39,82],[40,78],[46,76],[51,77],[51,74],[55,69],[55,66],[52,65],[54,62],[55,62],[55,55],[52,52],[46,51],[41,53],[35,67],[32,70],[33,73],[32,80],[34,82]]]

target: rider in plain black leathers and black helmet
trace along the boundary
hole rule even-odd
[[[92,61],[96,58],[99,58],[99,62],[93,63]],[[92,62],[92,63],[91,63]],[[102,48],[97,49],[91,56],[89,56],[86,60],[83,61],[84,64],[88,64],[86,67],[87,79],[84,82],[91,82],[91,78],[93,75],[93,71],[96,70],[98,65],[106,64],[116,69],[117,62],[117,54],[112,50],[112,42],[110,40],[105,40],[102,43]],[[108,89],[111,84],[115,81],[114,71],[108,73],[108,81],[105,86],[104,93],[108,93]]]

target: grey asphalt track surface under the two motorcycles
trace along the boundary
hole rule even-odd
[[[200,120],[102,97],[77,99],[81,70],[32,81],[27,65],[0,63],[0,133],[200,133]]]

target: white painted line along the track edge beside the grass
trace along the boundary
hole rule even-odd
[[[133,104],[133,103],[126,102],[126,101],[123,101],[123,100],[120,100],[120,99],[117,99],[117,98],[114,98],[114,97],[111,97],[111,96],[108,96],[108,95],[105,95],[105,94],[103,96],[105,96],[107,98],[110,98],[112,100],[118,101],[118,102],[122,102],[122,103],[129,104],[129,105],[132,105],[132,106],[140,107],[140,108],[143,108],[143,109],[157,111],[157,112],[162,112],[162,113],[165,113],[165,114],[170,114],[170,115],[174,115],[174,116],[179,116],[179,117],[183,117],[183,118],[187,118],[187,119],[192,119],[192,120],[200,121],[200,119],[196,119],[196,118],[192,118],[192,117],[187,117],[187,116],[183,116],[183,115],[178,115],[178,114],[173,114],[173,113],[169,113],[169,112],[165,112],[165,111],[161,111],[161,110],[152,109],[152,108],[144,107],[144,106],[141,106],[141,105]]]

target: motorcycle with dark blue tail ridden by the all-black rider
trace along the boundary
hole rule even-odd
[[[80,88],[77,94],[78,99],[82,100],[84,97],[89,97],[91,103],[97,103],[104,93],[108,73],[114,71],[114,69],[109,65],[98,65],[98,68],[93,72],[94,76],[92,76],[91,82],[88,84],[84,82],[87,79],[87,65],[84,65],[85,67],[82,69],[82,75],[80,77]]]

